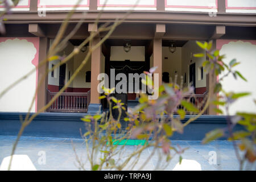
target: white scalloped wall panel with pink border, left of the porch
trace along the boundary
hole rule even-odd
[[[36,48],[31,42],[7,39],[0,43],[0,92],[35,68],[31,63]],[[36,89],[36,72],[19,82],[0,98],[0,111],[27,112]],[[32,107],[35,111],[35,104]]]

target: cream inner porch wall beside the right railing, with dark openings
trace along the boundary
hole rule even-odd
[[[197,46],[195,41],[189,40],[183,47],[182,47],[182,63],[181,63],[181,73],[184,76],[185,73],[187,73],[187,84],[189,84],[189,65],[196,63],[196,88],[201,88],[207,86],[207,80],[206,80],[206,73],[204,72],[204,78],[203,80],[200,80],[200,74],[199,70],[204,61],[206,60],[206,57],[193,57],[193,54],[195,53],[205,53],[203,49],[201,49],[199,46]],[[191,61],[192,60],[192,61]]]

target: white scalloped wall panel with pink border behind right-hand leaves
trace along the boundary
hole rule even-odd
[[[225,63],[229,63],[232,59],[237,59],[241,62],[235,68],[237,71],[247,79],[247,82],[238,78],[235,80],[232,75],[226,77],[222,81],[223,89],[226,92],[251,92],[251,96],[241,98],[240,100],[234,102],[230,108],[230,114],[235,114],[236,111],[256,111],[256,105],[254,101],[256,99],[256,79],[255,79],[255,68],[256,68],[256,45],[250,42],[229,42],[224,44],[220,50],[220,54],[225,54]],[[220,76],[221,77],[221,76]]]

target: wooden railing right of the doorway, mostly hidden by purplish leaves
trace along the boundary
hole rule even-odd
[[[187,97],[184,97],[184,99],[194,104],[197,107],[197,109],[201,111],[204,109],[205,102],[207,101],[207,92],[205,92],[204,94],[189,95]],[[190,114],[189,111],[187,111],[182,106],[179,106],[178,109],[184,109],[187,114]],[[203,114],[208,114],[208,109],[205,110]]]

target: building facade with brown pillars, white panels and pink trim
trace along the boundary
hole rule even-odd
[[[109,39],[93,51],[89,62],[65,90],[67,93],[63,100],[57,101],[55,105],[58,106],[52,110],[58,111],[61,103],[79,106],[80,111],[92,113],[100,105],[106,108],[106,104],[98,98],[100,94],[97,86],[100,81],[97,76],[100,73],[109,75],[110,69],[123,72],[125,67],[129,71],[142,73],[157,66],[160,83],[175,80],[176,75],[178,80],[183,76],[184,86],[192,82],[195,94],[203,95],[213,89],[218,78],[209,80],[202,69],[202,63],[207,57],[193,57],[194,53],[204,53],[195,41],[213,40],[213,48],[220,49],[221,54],[226,55],[227,63],[234,58],[242,63],[238,69],[248,80],[243,82],[229,77],[223,83],[224,88],[234,92],[252,92],[250,97],[234,104],[232,114],[237,110],[255,111],[255,0],[141,0],[136,3],[135,0],[80,2],[70,19],[65,36],[75,28],[77,22],[83,23],[65,48],[57,53],[60,57],[69,55],[102,24],[115,22],[117,18],[124,17],[127,11],[133,11],[115,28]],[[76,1],[21,0],[11,8],[11,14],[4,17],[6,34],[0,36],[0,92],[44,60],[61,23],[75,5]],[[3,10],[3,7],[0,8]],[[95,28],[94,22],[99,13],[101,16]],[[92,44],[97,44],[105,35],[102,32],[93,39]],[[123,49],[127,44],[131,46],[129,52]],[[171,51],[171,48],[175,50]],[[32,111],[38,111],[46,105],[49,93],[58,92],[68,82],[88,49],[86,45],[67,64],[48,73],[38,89]],[[0,111],[28,111],[39,80],[47,69],[59,62],[56,59],[40,67],[9,90],[0,99]],[[135,93],[128,93],[125,100],[134,101],[137,97]],[[216,114],[211,106],[208,114]]]

